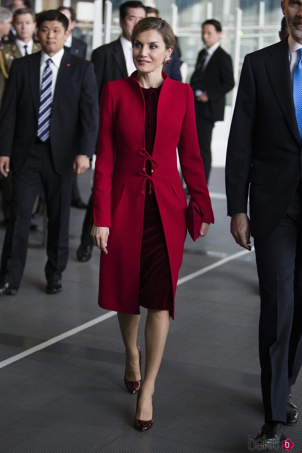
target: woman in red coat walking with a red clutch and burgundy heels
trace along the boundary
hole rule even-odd
[[[138,392],[134,426],[139,430],[153,425],[154,383],[170,315],[174,319],[187,233],[177,147],[184,180],[202,213],[200,236],[214,222],[192,89],[162,72],[174,44],[166,21],[141,19],[132,34],[137,71],[108,82],[100,105],[91,231],[101,249],[99,305],[118,312],[126,349],[124,379],[130,393]],[[144,382],[136,346],[139,306],[148,308]]]

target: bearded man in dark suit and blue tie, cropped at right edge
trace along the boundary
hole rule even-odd
[[[254,236],[261,299],[264,448],[296,424],[291,386],[302,364],[302,1],[283,0],[290,35],[247,55],[226,157],[231,233]],[[250,222],[247,216],[249,194]]]

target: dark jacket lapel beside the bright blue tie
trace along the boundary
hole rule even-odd
[[[283,41],[269,49],[269,51],[272,54],[272,57],[268,58],[265,62],[269,80],[280,108],[288,121],[288,125],[298,143],[301,145],[292,97],[292,77],[288,58],[288,40],[283,39]]]

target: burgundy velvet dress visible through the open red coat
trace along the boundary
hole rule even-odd
[[[145,149],[152,156],[160,88],[142,88],[145,100]],[[146,162],[151,174],[151,163]],[[151,193],[150,193],[151,192]],[[158,204],[146,184],[143,235],[139,263],[139,304],[154,310],[173,310],[173,286],[168,249]]]

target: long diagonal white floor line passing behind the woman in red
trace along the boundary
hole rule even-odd
[[[254,251],[254,247],[252,247],[252,251]],[[216,267],[222,266],[223,264],[236,260],[236,258],[240,258],[241,256],[247,255],[249,252],[248,250],[240,251],[237,253],[234,253],[233,255],[227,256],[226,258],[223,258],[222,260],[216,261],[216,263],[213,263],[209,266],[203,267],[200,270],[197,270],[196,272],[193,272],[192,274],[186,275],[185,277],[182,277],[181,279],[178,279],[177,281],[177,286],[186,283],[189,280],[195,279],[196,277],[199,277],[199,275],[206,274],[206,272],[209,272],[212,269],[215,269]],[[67,332],[61,333],[61,335],[58,335],[57,337],[50,338],[49,340],[38,344],[37,346],[31,347],[27,349],[26,351],[20,352],[19,354],[16,354],[15,356],[9,357],[8,359],[5,359],[0,362],[0,368],[4,368],[7,365],[10,365],[11,363],[14,363],[20,359],[23,359],[24,357],[27,357],[31,354],[34,354],[34,352],[41,351],[41,349],[45,349],[48,346],[51,346],[54,343],[58,343],[59,341],[64,340],[67,337],[71,337],[72,335],[75,335],[76,333],[81,332],[82,330],[88,329],[89,327],[92,327],[98,323],[101,323],[102,321],[105,321],[108,318],[111,318],[112,316],[115,316],[116,312],[108,312],[103,314],[102,316],[99,316],[98,318],[91,319],[91,321],[88,321],[87,323],[81,324],[81,326],[77,326],[71,330],[68,330]]]

